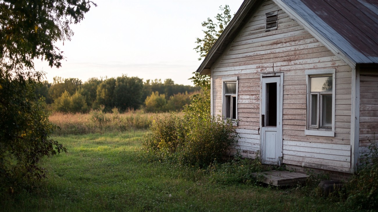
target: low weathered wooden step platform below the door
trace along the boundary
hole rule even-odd
[[[309,177],[309,175],[302,173],[278,170],[252,174],[258,181],[270,184],[272,186],[293,186],[296,184],[304,184],[306,179]]]

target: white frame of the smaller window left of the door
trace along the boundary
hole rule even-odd
[[[236,83],[236,91],[235,91],[235,94],[226,94],[226,86],[225,84],[227,83]],[[234,124],[236,124],[236,120],[238,118],[238,107],[237,107],[237,102],[238,102],[238,80],[237,80],[237,77],[222,77],[222,117],[224,120],[226,119],[230,119],[230,118],[226,118],[226,101],[227,101],[227,98],[226,96],[230,96],[231,100],[232,100],[232,97],[235,97],[235,119],[232,119],[231,120],[233,122],[235,122]],[[233,110],[233,104],[232,104],[232,101],[230,101],[231,105],[230,105],[230,116],[232,117],[232,110]]]

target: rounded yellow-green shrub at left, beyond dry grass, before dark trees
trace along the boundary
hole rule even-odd
[[[85,113],[88,111],[88,105],[85,103],[84,96],[77,91],[73,95],[65,91],[62,96],[55,100],[53,108],[55,111],[63,113]]]

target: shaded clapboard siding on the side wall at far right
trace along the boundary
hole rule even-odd
[[[376,71],[376,70],[375,70]],[[360,74],[359,156],[371,150],[378,142],[378,73]]]

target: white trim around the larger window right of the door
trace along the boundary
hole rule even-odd
[[[314,135],[314,136],[327,136],[327,137],[335,137],[335,97],[336,97],[336,70],[333,69],[321,69],[321,70],[305,70],[306,74],[306,99],[307,99],[307,113],[306,113],[306,130],[305,135]],[[329,75],[332,74],[332,128],[330,130],[327,129],[310,129],[310,120],[309,120],[309,113],[310,113],[310,76],[322,76],[322,75]]]

